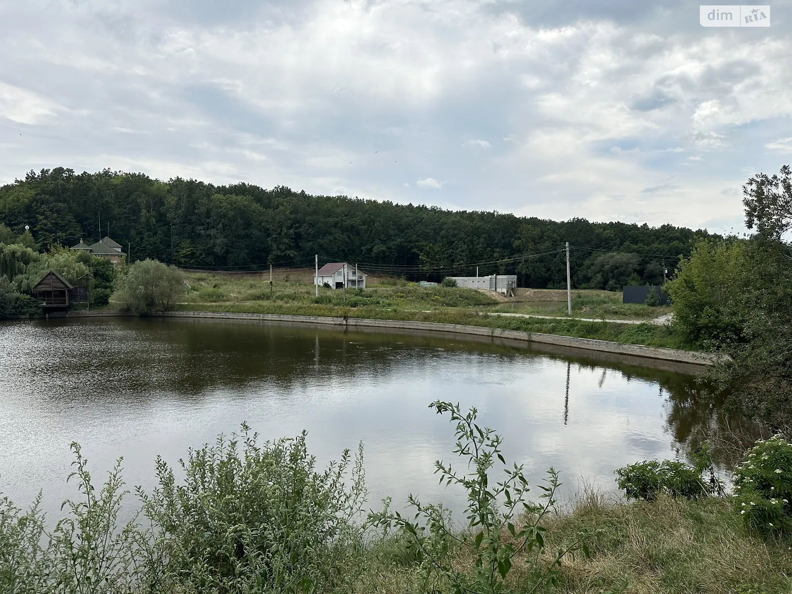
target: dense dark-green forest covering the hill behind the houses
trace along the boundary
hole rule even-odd
[[[101,229],[99,228],[101,221]],[[620,288],[662,279],[706,231],[664,225],[554,222],[488,211],[446,211],[345,196],[312,196],[278,186],[211,185],[142,173],[31,171],[0,188],[0,223],[25,225],[43,249],[95,242],[109,234],[131,260],[183,267],[265,268],[320,261],[360,262],[411,280],[516,273],[529,287],[565,286],[573,246],[573,284]],[[547,254],[546,252],[554,252]],[[535,258],[526,254],[544,253]],[[618,253],[618,254],[617,254]]]

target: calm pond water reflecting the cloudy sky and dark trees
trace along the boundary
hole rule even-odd
[[[307,429],[322,464],[364,443],[371,507],[414,493],[459,510],[463,493],[433,474],[454,444],[447,418],[427,408],[436,399],[477,406],[506,459],[535,482],[561,470],[566,495],[581,482],[612,491],[614,468],[674,458],[733,422],[698,402],[691,375],[584,352],[207,320],[5,322],[0,386],[0,491],[26,505],[43,490],[50,513],[74,494],[72,441],[97,482],[123,456],[128,485],[151,489],[156,455],[175,464],[242,421],[265,440]]]

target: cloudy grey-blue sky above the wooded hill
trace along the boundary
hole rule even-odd
[[[792,162],[792,0],[6,0],[0,183],[29,169],[741,230]]]

